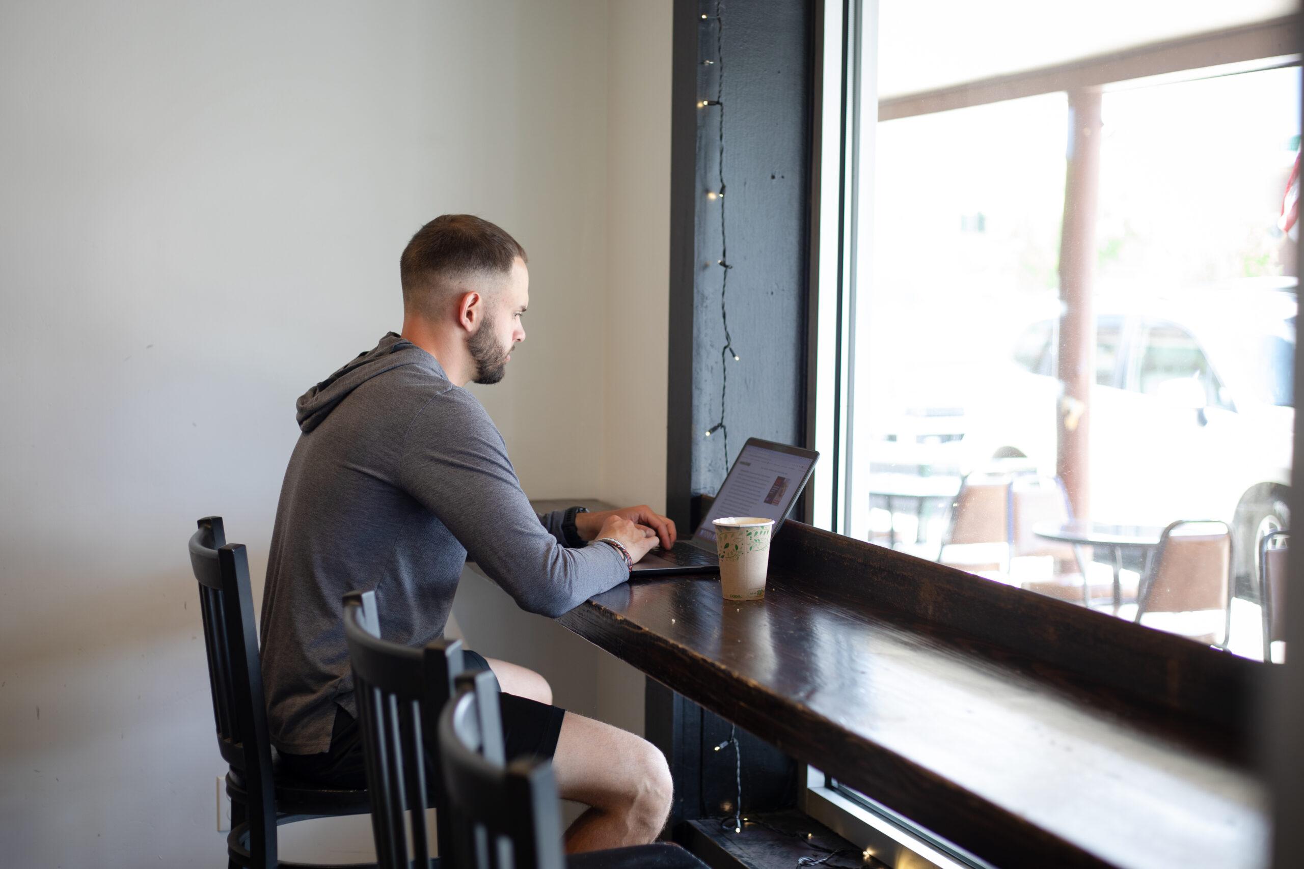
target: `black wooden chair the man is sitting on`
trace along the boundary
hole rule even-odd
[[[267,735],[249,560],[244,546],[227,545],[222,517],[200,520],[200,530],[190,537],[190,565],[200,581],[218,749],[230,766],[230,865],[301,866],[278,861],[276,827],[309,818],[365,814],[370,810],[368,793],[319,788],[278,771]]]

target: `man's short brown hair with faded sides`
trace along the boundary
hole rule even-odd
[[[403,307],[434,313],[447,281],[472,272],[511,271],[526,249],[501,227],[469,214],[446,214],[421,227],[399,258]]]

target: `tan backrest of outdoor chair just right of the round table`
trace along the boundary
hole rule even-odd
[[[1231,529],[1217,520],[1179,520],[1159,535],[1141,582],[1137,619],[1146,612],[1231,607]]]

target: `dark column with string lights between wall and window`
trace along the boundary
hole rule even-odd
[[[683,533],[747,438],[805,446],[814,21],[811,1],[675,1],[666,509]],[[645,732],[675,778],[672,827],[732,813],[726,720],[649,679]],[[737,737],[743,810],[793,805],[795,763]]]

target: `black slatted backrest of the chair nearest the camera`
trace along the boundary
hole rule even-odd
[[[553,767],[536,758],[505,765],[489,674],[463,675],[439,715],[439,754],[460,869],[565,869]],[[485,711],[489,715],[485,715]],[[498,757],[486,745],[498,739]]]

